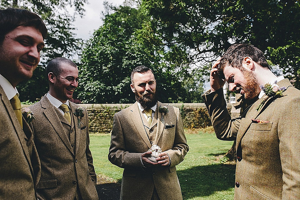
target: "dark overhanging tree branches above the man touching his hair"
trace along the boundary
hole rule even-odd
[[[204,73],[232,43],[251,43],[299,88],[300,2],[295,0],[143,0],[169,44],[186,47]],[[291,25],[292,24],[292,25]],[[158,34],[159,34],[158,33]]]

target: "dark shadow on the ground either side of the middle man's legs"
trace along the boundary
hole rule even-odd
[[[216,191],[234,187],[235,165],[213,164],[177,171],[183,199],[209,196]],[[119,200],[119,183],[103,183],[96,186],[100,200]]]

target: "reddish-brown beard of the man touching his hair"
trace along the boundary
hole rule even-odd
[[[252,71],[243,71],[246,84],[240,89],[244,90],[245,99],[253,99],[260,93],[261,88],[259,87],[256,75]]]

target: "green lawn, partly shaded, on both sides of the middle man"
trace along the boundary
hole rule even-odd
[[[218,140],[211,128],[185,130],[190,147],[177,174],[184,200],[232,200],[235,165],[223,164],[216,156],[226,153],[233,142]],[[91,134],[90,149],[97,174],[120,182],[123,169],[108,161],[110,134]]]

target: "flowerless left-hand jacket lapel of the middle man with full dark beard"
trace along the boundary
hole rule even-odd
[[[144,128],[142,117],[144,116],[142,115],[142,113],[140,113],[140,109],[138,108],[138,102],[135,102],[130,109],[130,118],[135,128],[137,129],[138,134],[140,134],[141,138],[144,140],[144,142],[147,144],[147,146],[150,149],[152,145],[150,144],[150,140]]]

